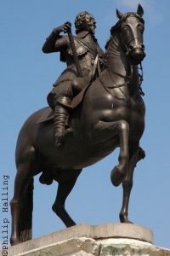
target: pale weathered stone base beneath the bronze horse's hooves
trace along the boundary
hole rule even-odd
[[[8,247],[8,255],[170,256],[170,249],[156,247],[152,242],[152,232],[135,224],[79,224]]]

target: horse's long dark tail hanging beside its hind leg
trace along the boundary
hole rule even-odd
[[[30,183],[22,193],[18,230],[20,241],[27,241],[32,238],[33,183],[34,178],[31,177]]]

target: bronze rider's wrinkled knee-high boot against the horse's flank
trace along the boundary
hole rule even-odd
[[[57,103],[54,108],[54,129],[55,129],[55,146],[59,148],[63,138],[67,132],[71,132],[71,128],[65,128],[69,117],[69,108]]]

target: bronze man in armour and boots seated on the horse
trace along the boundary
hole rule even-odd
[[[68,126],[71,100],[73,96],[99,75],[99,69],[104,67],[104,53],[99,48],[94,36],[96,22],[94,16],[86,11],[77,15],[75,20],[76,34],[74,44],[77,58],[82,71],[78,77],[77,66],[74,61],[73,50],[68,35],[61,36],[60,32],[68,32],[71,23],[54,28],[42,46],[44,53],[60,52],[60,61],[66,62],[67,67],[54,83],[54,89],[48,94],[48,104],[54,110],[55,146],[59,147],[65,133],[71,131]],[[94,65],[95,62],[95,65]],[[98,74],[93,67],[98,67]],[[100,67],[100,68],[99,68]]]

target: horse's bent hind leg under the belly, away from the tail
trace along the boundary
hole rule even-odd
[[[59,218],[64,222],[66,227],[71,227],[76,223],[69,216],[68,212],[65,210],[65,200],[67,196],[71,193],[77,177],[82,172],[82,170],[69,170],[69,179],[59,182],[59,187],[57,191],[57,196],[52,207],[53,211],[59,216]],[[65,173],[66,174],[66,173]]]

